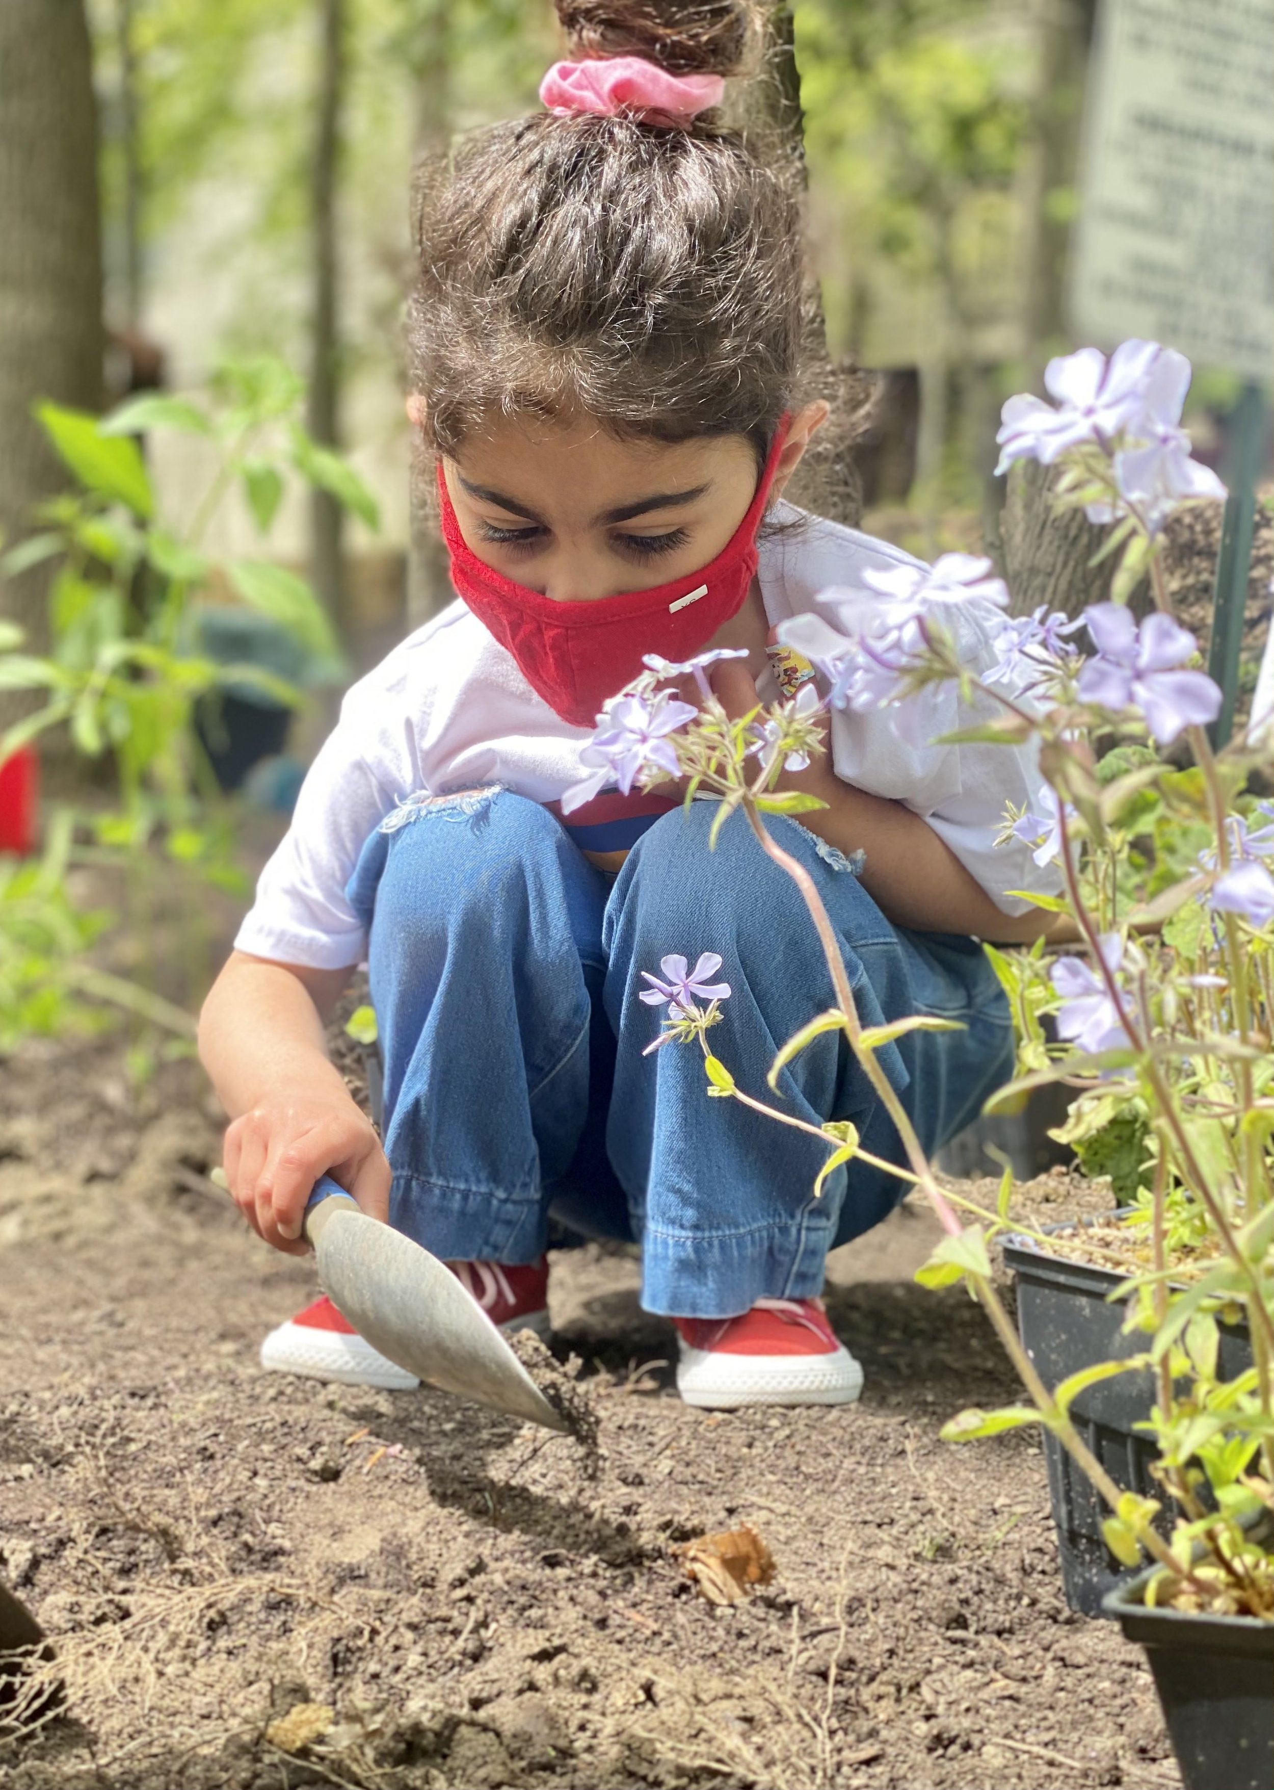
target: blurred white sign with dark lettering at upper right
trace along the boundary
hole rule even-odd
[[[1274,0],[1102,0],[1072,267],[1077,337],[1274,372]]]

